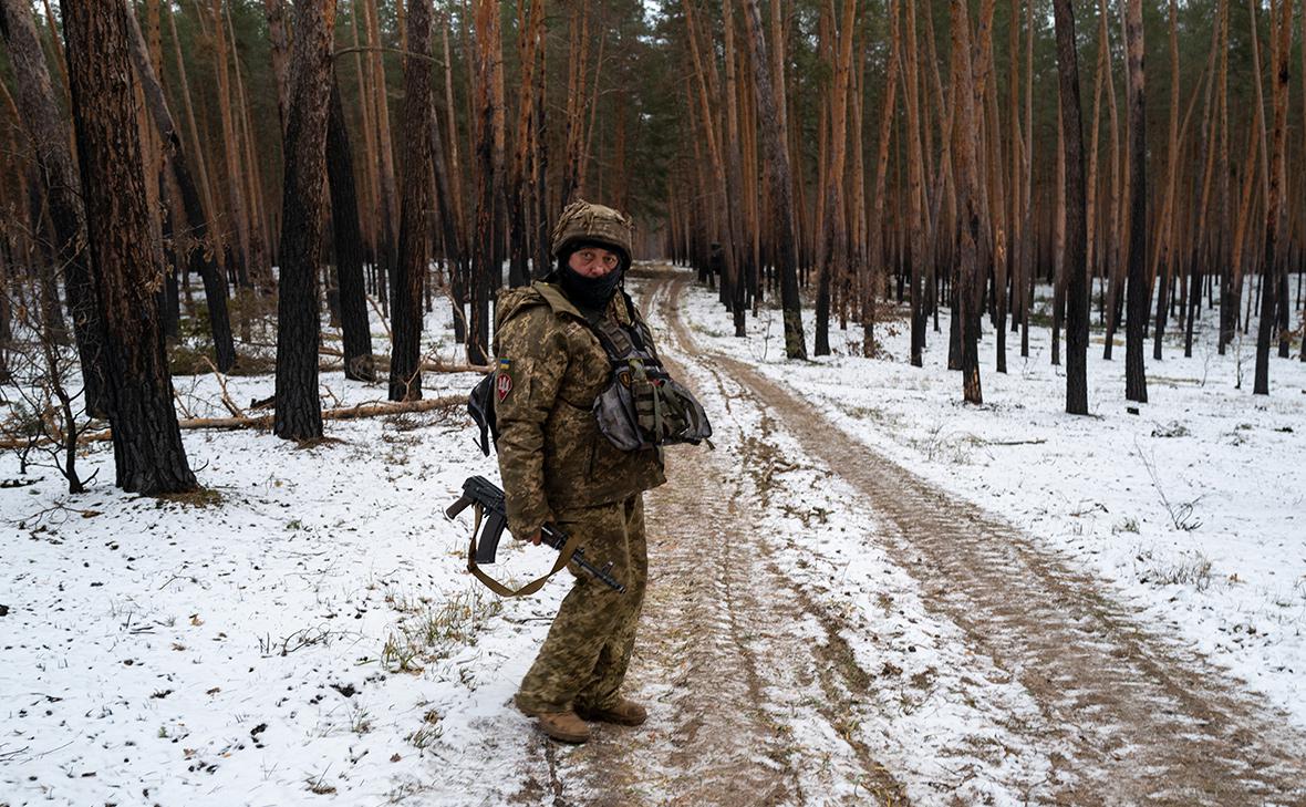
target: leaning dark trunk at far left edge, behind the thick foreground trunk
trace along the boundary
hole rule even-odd
[[[9,51],[17,87],[20,123],[31,140],[39,175],[46,184],[55,235],[55,265],[64,268],[68,308],[82,367],[86,411],[108,414],[104,358],[104,324],[99,319],[95,289],[86,253],[86,221],[78,197],[78,179],[69,150],[68,127],[59,116],[46,57],[31,22],[31,7],[24,0],[0,0],[0,35]]]

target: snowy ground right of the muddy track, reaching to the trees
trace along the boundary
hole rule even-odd
[[[1293,286],[1296,287],[1296,285]],[[976,501],[1102,577],[1145,619],[1225,665],[1306,727],[1306,364],[1272,351],[1271,394],[1252,396],[1255,324],[1221,356],[1204,311],[1192,358],[1178,337],[1164,360],[1147,343],[1148,404],[1124,400],[1123,333],[1115,359],[1088,360],[1089,417],[1064,414],[1066,377],[1049,332],[1029,358],[1008,334],[994,371],[986,323],[983,405],[961,401],[947,370],[948,316],[912,367],[909,325],[878,332],[888,356],[861,358],[861,329],[831,333],[833,355],[784,358],[780,312],[763,307],[738,340],[714,293],[692,289],[683,312],[700,345],[755,364],[842,428]],[[807,349],[814,345],[804,312]],[[1242,381],[1241,389],[1238,381]],[[1130,411],[1138,409],[1138,414]]]

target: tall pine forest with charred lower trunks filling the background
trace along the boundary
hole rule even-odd
[[[1221,353],[1255,328],[1256,393],[1306,360],[1293,0],[121,1],[0,0],[0,370],[76,345],[90,415],[135,411],[132,373],[274,368],[274,431],[319,437],[325,317],[350,377],[419,398],[422,312],[485,366],[576,197],[737,334],[774,299],[790,358],[905,316],[919,364],[951,309],[972,402],[977,341],[1006,372],[1030,325],[1072,413],[1091,329],[1136,401],[1145,340],[1191,353],[1202,317]]]

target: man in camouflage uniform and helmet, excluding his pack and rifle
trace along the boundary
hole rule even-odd
[[[640,704],[619,695],[648,577],[646,490],[666,481],[658,448],[620,451],[599,431],[594,400],[613,381],[596,332],[619,328],[652,351],[652,334],[618,294],[631,265],[631,219],[576,201],[552,232],[556,266],[499,299],[495,417],[508,529],[539,543],[555,524],[592,559],[613,562],[620,594],[577,575],[516,696],[517,708],[559,740],[589,739],[585,721],[637,726]],[[575,573],[575,569],[573,569]]]

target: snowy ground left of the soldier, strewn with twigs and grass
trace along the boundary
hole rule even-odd
[[[430,317],[430,342],[445,320]],[[427,373],[427,397],[475,380]],[[385,398],[384,380],[321,383],[324,406]],[[240,405],[273,389],[227,384]],[[175,388],[188,413],[226,415],[213,377]],[[460,759],[468,723],[528,730],[505,703],[564,586],[500,603],[464,571],[470,512],[443,511],[465,477],[498,473],[461,407],[326,434],[300,449],[183,432],[212,492],[195,501],[114,488],[107,443],[80,460],[99,475],[72,498],[56,471],[21,477],[0,457],[0,479],[34,482],[0,490],[0,804],[457,804],[460,778],[511,791],[495,769],[520,751]],[[547,569],[512,545],[499,573]]]

